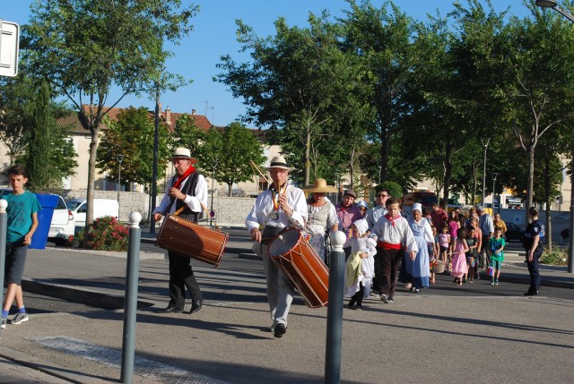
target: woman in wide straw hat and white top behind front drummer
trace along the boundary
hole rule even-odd
[[[335,206],[326,199],[326,193],[337,192],[337,189],[327,185],[325,179],[317,178],[312,186],[305,187],[303,190],[313,193],[307,201],[309,218],[307,226],[305,226],[305,234],[309,236],[309,244],[317,251],[319,257],[328,264],[325,245],[326,231],[338,231],[339,220]]]

